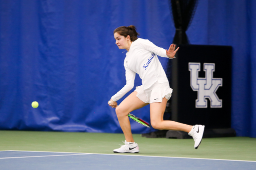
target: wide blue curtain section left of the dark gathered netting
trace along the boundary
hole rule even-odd
[[[172,41],[168,1],[1,0],[0,129],[121,133],[107,105],[125,84],[113,30],[131,24],[159,46]],[[149,122],[148,107],[134,114]]]

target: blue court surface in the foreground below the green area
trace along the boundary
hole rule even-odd
[[[0,170],[256,170],[256,162],[127,154],[0,151]]]

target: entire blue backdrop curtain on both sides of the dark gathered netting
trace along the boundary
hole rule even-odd
[[[175,33],[168,1],[0,0],[0,130],[121,133],[107,105],[125,84],[125,52],[112,32],[136,25],[140,37],[168,48]],[[255,7],[199,0],[186,31],[191,44],[233,47],[232,128],[249,137],[256,137]],[[148,112],[134,114],[149,121]],[[153,131],[131,124],[133,133]]]

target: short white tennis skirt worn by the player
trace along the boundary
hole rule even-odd
[[[169,83],[158,83],[157,81],[149,89],[143,90],[143,85],[140,85],[134,91],[137,92],[136,96],[144,103],[162,102],[164,97],[169,100],[172,93]]]

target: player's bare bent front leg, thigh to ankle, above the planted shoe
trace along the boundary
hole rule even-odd
[[[128,113],[148,105],[148,103],[144,103],[137,98],[136,95],[136,91],[132,92],[115,109],[116,116],[127,142],[134,142],[131,134]]]

